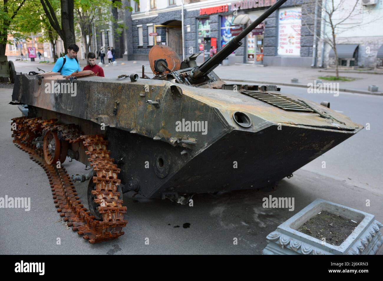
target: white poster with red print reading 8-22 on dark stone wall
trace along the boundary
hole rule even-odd
[[[301,7],[278,11],[278,55],[301,54]]]

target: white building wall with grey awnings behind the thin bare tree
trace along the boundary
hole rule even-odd
[[[340,2],[327,0],[327,9],[331,10],[332,1],[335,7]],[[339,56],[341,67],[383,67],[382,9],[382,0],[347,0],[342,8],[334,12],[332,21],[335,24],[341,22],[335,32],[337,49],[342,52]],[[326,34],[331,36],[328,24]],[[326,66],[335,64],[334,50],[328,44],[324,58]]]

